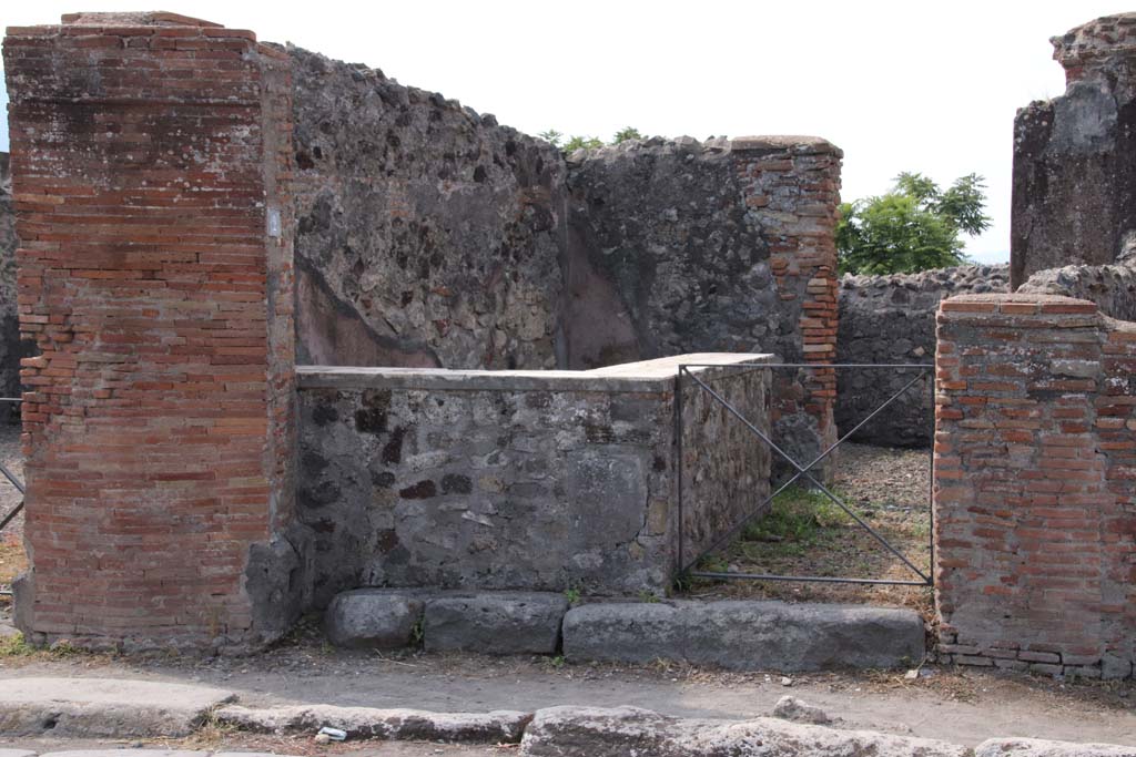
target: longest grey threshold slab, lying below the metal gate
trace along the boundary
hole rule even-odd
[[[563,623],[569,659],[669,659],[728,670],[911,666],[924,644],[914,611],[861,605],[593,604],[570,609]]]

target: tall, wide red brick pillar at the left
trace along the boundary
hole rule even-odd
[[[239,649],[294,619],[286,56],[173,14],[9,28],[36,641]]]

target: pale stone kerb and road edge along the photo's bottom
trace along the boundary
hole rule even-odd
[[[676,717],[636,707],[560,706],[442,713],[334,705],[245,706],[234,690],[128,679],[26,676],[0,689],[0,757],[262,757],[329,754],[452,755],[513,749],[525,757],[1136,757],[1136,746],[1005,734],[976,746],[795,722],[784,717]],[[815,709],[815,708],[804,708]],[[827,720],[827,717],[825,718]],[[320,743],[324,725],[350,743]],[[275,739],[266,750],[260,738]],[[126,738],[126,741],[123,739]],[[84,745],[84,740],[94,743]],[[114,739],[116,741],[108,742]],[[209,739],[217,743],[202,748]],[[101,741],[100,741],[101,740]],[[151,743],[147,743],[150,741]],[[369,743],[368,743],[369,742]],[[384,749],[374,751],[376,742]],[[387,749],[404,742],[399,751]],[[458,743],[471,750],[457,750]],[[166,748],[145,748],[164,746]]]

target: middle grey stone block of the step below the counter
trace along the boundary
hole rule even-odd
[[[426,603],[427,651],[551,655],[560,646],[568,599],[550,592],[484,592]]]

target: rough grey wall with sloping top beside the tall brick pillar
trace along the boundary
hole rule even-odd
[[[559,151],[377,69],[287,54],[300,362],[557,367]]]

